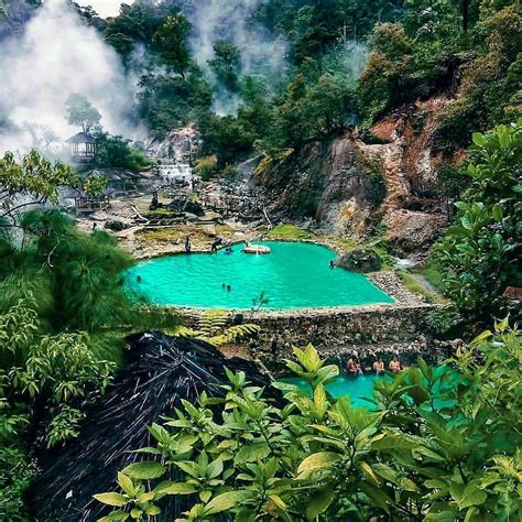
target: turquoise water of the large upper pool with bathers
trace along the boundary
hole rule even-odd
[[[393,303],[361,274],[330,269],[331,250],[312,243],[261,241],[272,253],[168,255],[133,267],[128,286],[159,305],[248,309],[264,292],[264,308],[306,308]],[[140,276],[139,282],[137,278]],[[227,291],[222,285],[230,285]]]

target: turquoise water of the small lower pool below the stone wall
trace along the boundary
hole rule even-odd
[[[365,406],[371,409],[372,404],[365,399],[371,399],[371,390],[377,379],[387,379],[387,377],[369,376],[338,376],[326,384],[326,389],[334,399],[339,396],[349,396],[354,406]],[[303,391],[312,392],[309,384],[298,377],[289,377],[279,379],[281,382],[298,385]]]

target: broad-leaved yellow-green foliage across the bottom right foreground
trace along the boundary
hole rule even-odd
[[[149,427],[155,444],[140,453],[155,459],[123,469],[121,492],[96,496],[119,508],[104,520],[145,520],[171,494],[193,500],[183,521],[514,520],[521,350],[503,320],[456,354],[456,370],[420,359],[380,381],[368,409],[329,395],[339,370],[312,346],[287,361],[309,392],[276,383],[279,403],[229,372],[226,399],[202,394]]]

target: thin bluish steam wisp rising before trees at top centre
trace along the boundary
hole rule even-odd
[[[274,78],[286,72],[286,41],[252,20],[253,13],[264,1],[198,0],[191,9],[184,10],[193,26],[189,39],[193,56],[207,77],[214,80],[214,109],[218,113],[235,112],[240,100],[213,78],[208,61],[215,57],[216,43],[225,42],[238,47],[242,75]]]

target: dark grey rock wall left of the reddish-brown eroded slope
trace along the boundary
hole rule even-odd
[[[379,159],[360,144],[346,133],[258,168],[254,180],[267,191],[271,214],[312,217],[336,233],[362,236],[385,187]]]

